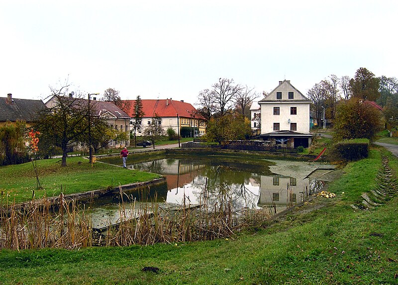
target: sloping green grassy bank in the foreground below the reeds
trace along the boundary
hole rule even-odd
[[[397,159],[390,166],[397,168]],[[3,284],[397,284],[395,197],[373,210],[354,210],[370,191],[381,149],[349,163],[316,197],[287,216],[228,239],[79,251],[0,252]],[[152,267],[159,272],[143,272]]]

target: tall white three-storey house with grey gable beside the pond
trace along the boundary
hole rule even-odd
[[[308,147],[309,105],[289,80],[280,81],[269,95],[258,102],[261,106],[261,137],[284,147]]]

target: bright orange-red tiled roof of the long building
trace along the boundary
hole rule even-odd
[[[130,109],[127,111],[132,117],[134,116],[134,104],[135,100],[130,101]],[[198,110],[191,105],[183,101],[176,101],[172,99],[141,99],[142,110],[145,113],[144,117],[152,118],[155,113],[160,117],[191,117],[204,119],[198,112]]]

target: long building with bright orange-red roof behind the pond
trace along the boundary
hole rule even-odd
[[[134,117],[135,100],[128,100],[129,109],[126,111]],[[164,131],[173,128],[176,133],[183,137],[200,136],[205,133],[206,119],[199,114],[198,110],[190,103],[167,99],[141,99],[142,109],[145,113],[141,126],[137,129],[137,136],[142,135],[145,126],[151,123],[152,118],[157,114],[162,118]],[[132,121],[130,129],[133,130]],[[189,133],[188,133],[189,132]]]

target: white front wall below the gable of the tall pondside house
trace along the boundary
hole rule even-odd
[[[274,107],[279,107],[279,115],[274,115]],[[297,108],[297,114],[291,114],[291,107]],[[290,123],[289,123],[290,119]],[[307,102],[262,102],[261,133],[274,131],[274,123],[279,123],[280,130],[290,130],[291,123],[297,123],[298,133],[309,133],[309,103]]]

